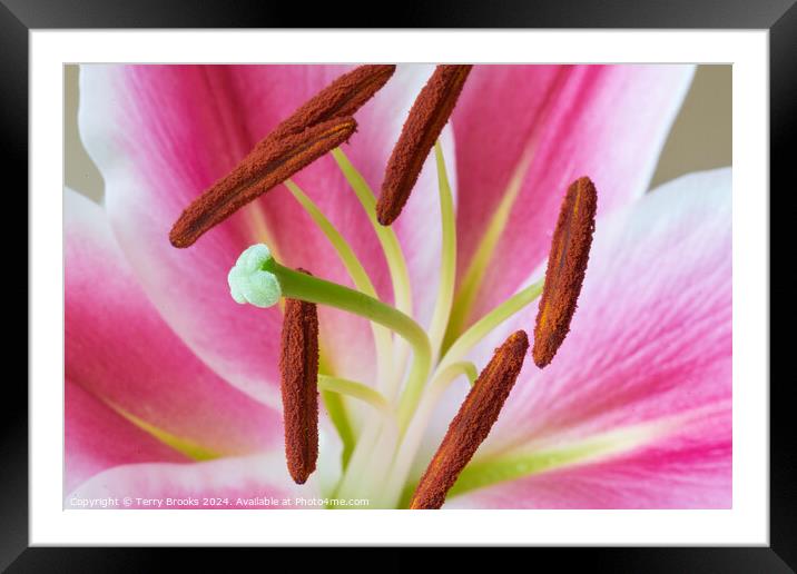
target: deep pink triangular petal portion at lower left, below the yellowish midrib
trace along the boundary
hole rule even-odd
[[[63,483],[67,493],[112,466],[188,461],[69,379],[66,382],[65,407]]]

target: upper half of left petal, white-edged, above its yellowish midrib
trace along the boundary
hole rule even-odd
[[[197,359],[158,316],[102,209],[65,192],[66,375],[124,413],[216,455],[276,448],[281,413]]]

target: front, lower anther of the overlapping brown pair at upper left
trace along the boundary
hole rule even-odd
[[[193,245],[236,210],[347,141],[356,127],[353,118],[342,117],[282,138],[266,137],[233,171],[183,211],[169,234],[171,245]]]

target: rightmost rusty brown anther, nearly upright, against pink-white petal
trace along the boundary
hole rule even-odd
[[[590,178],[573,181],[553,232],[537,314],[532,355],[540,368],[551,363],[570,330],[590,256],[597,208],[598,194]]]

